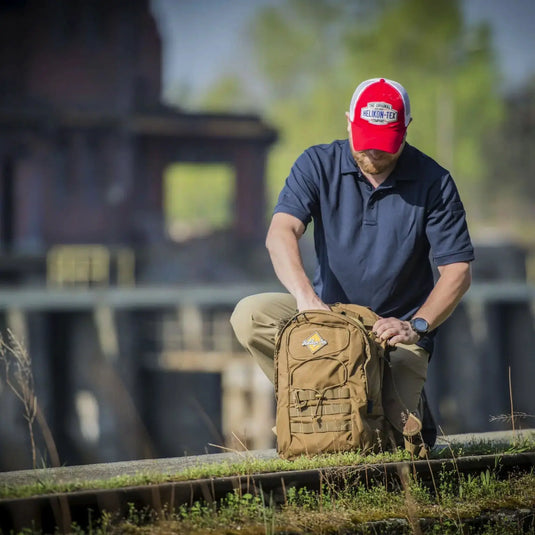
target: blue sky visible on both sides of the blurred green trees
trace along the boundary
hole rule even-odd
[[[178,92],[194,102],[228,72],[254,77],[252,58],[243,45],[247,29],[258,9],[281,2],[152,0],[164,45],[164,98]],[[535,73],[535,0],[462,0],[462,6],[469,24],[491,24],[503,89],[516,88]]]

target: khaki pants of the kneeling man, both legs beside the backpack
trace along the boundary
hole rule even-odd
[[[296,301],[290,294],[262,293],[242,299],[230,318],[240,344],[271,382],[275,373],[275,337],[296,312]],[[428,352],[416,344],[399,344],[390,352],[390,365],[385,368],[383,380],[383,403],[386,416],[400,432],[408,412],[421,417],[418,405],[428,361]]]

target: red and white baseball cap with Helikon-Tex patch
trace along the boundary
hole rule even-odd
[[[353,93],[349,120],[356,151],[376,149],[394,154],[411,121],[409,95],[398,82],[366,80]]]

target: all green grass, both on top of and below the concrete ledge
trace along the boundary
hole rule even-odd
[[[533,440],[514,444],[478,442],[432,451],[431,458],[460,458],[467,455],[507,454],[535,451]],[[107,480],[54,485],[41,482],[17,489],[3,489],[2,496],[75,491],[89,488],[115,488],[185,481],[206,477],[252,475],[273,471],[307,470],[325,467],[358,466],[409,460],[405,451],[375,455],[357,452],[299,458],[258,460],[252,457],[240,463],[218,463],[187,468],[173,475],[139,474]],[[82,529],[71,532],[88,535],[171,534],[259,535],[292,533],[434,533],[513,535],[535,533],[535,474],[513,474],[500,479],[494,470],[463,474],[444,468],[431,483],[411,475],[411,463],[398,483],[389,481],[367,486],[352,478],[340,483],[323,478],[319,492],[306,488],[283,489],[276,498],[264,494],[235,491],[217,503],[197,501],[176,509],[136,509],[130,505],[122,516],[104,512]],[[339,474],[337,474],[339,475]],[[521,516],[524,516],[521,519]],[[527,528],[526,528],[527,526]],[[527,531],[526,531],[527,529]],[[388,531],[393,530],[393,531]],[[27,535],[39,531],[27,530]]]

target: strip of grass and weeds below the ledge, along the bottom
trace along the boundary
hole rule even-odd
[[[414,479],[402,488],[364,485],[338,489],[323,485],[320,492],[287,489],[285,502],[275,506],[269,496],[228,494],[219,504],[196,502],[169,512],[131,507],[126,519],[106,514],[91,533],[149,534],[181,533],[213,535],[271,533],[383,533],[384,525],[372,522],[401,523],[412,533],[419,519],[427,519],[426,533],[516,534],[518,520],[503,515],[504,511],[531,508],[531,529],[535,530],[535,475],[517,475],[498,480],[492,472],[464,476],[443,472],[436,488],[428,488]],[[464,528],[471,519],[489,511],[502,512],[501,517],[483,520],[477,531]],[[529,513],[527,513],[529,517]],[[80,533],[82,531],[80,530]]]

